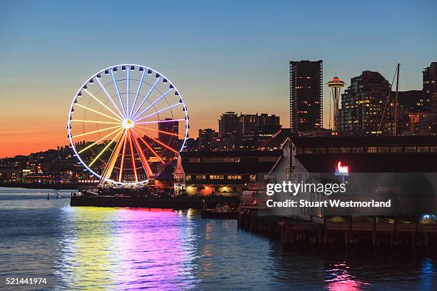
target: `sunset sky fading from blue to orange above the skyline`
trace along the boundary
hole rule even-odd
[[[256,4],[255,4],[256,3]],[[224,111],[281,116],[288,62],[323,59],[323,82],[363,70],[421,89],[437,61],[436,1],[8,1],[0,18],[0,158],[68,144],[71,99],[89,76],[139,63],[171,78],[191,136]],[[329,93],[325,88],[324,125]]]

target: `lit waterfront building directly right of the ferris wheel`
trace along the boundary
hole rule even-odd
[[[281,150],[181,153],[174,170],[175,193],[233,195],[256,200]],[[248,199],[246,199],[248,200]]]

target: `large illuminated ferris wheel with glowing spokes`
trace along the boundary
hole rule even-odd
[[[74,155],[100,183],[136,185],[156,177],[189,137],[176,86],[136,64],[105,68],[74,95],[67,125]]]

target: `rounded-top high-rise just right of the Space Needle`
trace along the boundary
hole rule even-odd
[[[341,95],[338,131],[355,136],[382,134],[391,119],[386,113],[381,122],[390,90],[390,84],[378,72],[363,71],[361,76],[351,78],[351,85]]]

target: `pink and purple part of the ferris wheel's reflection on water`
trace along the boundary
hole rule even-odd
[[[191,282],[189,221],[174,210],[119,209],[116,233],[119,287],[174,290]],[[187,227],[188,226],[188,227]],[[188,229],[188,230],[187,230]],[[185,278],[181,280],[181,278]]]

